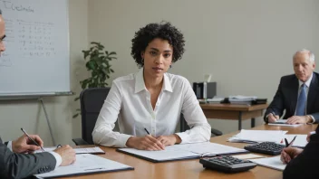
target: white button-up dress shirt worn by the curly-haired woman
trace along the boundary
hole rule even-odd
[[[164,73],[163,86],[153,109],[150,92],[145,88],[143,69],[113,80],[99,118],[92,132],[95,144],[127,147],[132,137],[147,135],[169,136],[175,133],[180,113],[191,129],[176,133],[181,143],[204,142],[210,138],[210,125],[200,108],[189,80],[179,75]],[[118,120],[120,133],[112,131]]]

